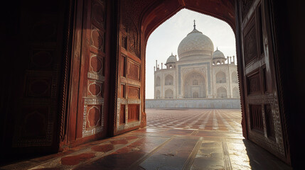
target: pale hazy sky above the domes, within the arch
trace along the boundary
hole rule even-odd
[[[154,98],[156,60],[161,68],[161,62],[165,63],[171,52],[177,55],[179,43],[193,30],[193,20],[196,20],[196,29],[213,41],[214,50],[218,47],[225,57],[236,56],[235,35],[228,23],[218,18],[182,9],[156,28],[149,37],[146,46],[146,98]]]

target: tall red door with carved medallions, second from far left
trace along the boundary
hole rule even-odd
[[[107,2],[77,1],[68,145],[107,135],[110,28]]]

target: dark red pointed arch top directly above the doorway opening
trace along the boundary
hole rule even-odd
[[[159,1],[147,8],[141,18],[141,30],[144,33],[145,44],[149,35],[183,8],[203,13],[225,21],[235,32],[235,1],[208,1],[208,0],[168,0]],[[161,12],[162,11],[162,12]]]

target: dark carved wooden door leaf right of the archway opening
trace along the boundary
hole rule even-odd
[[[239,19],[247,137],[289,162],[274,67],[268,2],[240,1]]]

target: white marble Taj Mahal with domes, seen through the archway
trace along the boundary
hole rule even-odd
[[[235,56],[225,57],[220,47],[196,29],[181,40],[177,55],[154,67],[154,100],[146,107],[239,108],[240,91]],[[167,103],[167,104],[166,104]],[[216,107],[217,106],[217,107]]]

